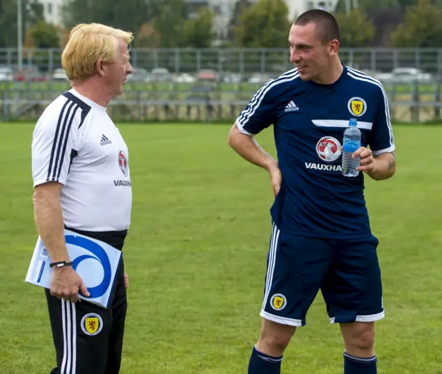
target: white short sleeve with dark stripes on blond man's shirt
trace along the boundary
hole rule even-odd
[[[32,180],[34,187],[46,182],[66,184],[70,164],[78,152],[76,109],[41,115],[32,133]]]

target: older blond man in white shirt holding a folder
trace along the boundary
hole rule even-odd
[[[48,105],[32,136],[35,224],[52,268],[45,290],[57,353],[52,374],[119,373],[128,286],[123,259],[108,308],[77,302],[90,293],[73,269],[64,229],[123,248],[132,209],[128,148],[106,106],[132,73],[132,40],[131,32],[101,24],[73,28],[61,56],[71,88]]]

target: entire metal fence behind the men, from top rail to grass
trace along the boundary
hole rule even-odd
[[[49,102],[69,88],[63,76],[52,75],[60,66],[61,52],[61,49],[23,50],[23,68],[38,70],[46,76],[43,80],[32,75],[20,79],[15,76],[0,82],[3,121],[34,121]],[[15,68],[17,55],[16,49],[0,49],[0,66]],[[442,122],[442,48],[343,48],[340,57],[349,66],[379,73],[374,77],[384,84],[394,122]],[[133,48],[131,62],[146,72],[162,68],[170,74],[153,79],[131,75],[124,95],[109,107],[116,121],[233,121],[263,82],[293,68],[288,48]],[[422,72],[408,69],[405,75],[392,74],[397,68]],[[217,77],[202,80],[198,73],[204,69],[215,71]],[[190,75],[184,79],[186,73]],[[257,73],[268,76],[253,77]]]

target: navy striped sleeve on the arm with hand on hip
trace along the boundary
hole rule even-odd
[[[242,133],[253,136],[273,123],[276,100],[273,98],[272,82],[270,80],[256,92],[236,119],[236,125]]]

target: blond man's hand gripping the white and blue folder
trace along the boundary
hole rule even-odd
[[[50,277],[50,294],[59,299],[70,300],[76,303],[79,299],[78,292],[85,297],[89,297],[90,293],[84,286],[83,279],[70,266],[62,268],[54,268]]]

